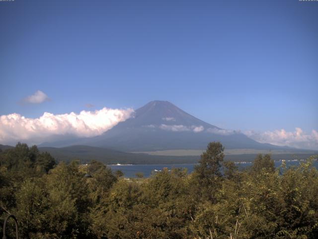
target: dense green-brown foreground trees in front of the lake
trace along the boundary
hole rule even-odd
[[[258,155],[238,171],[223,151],[210,143],[191,174],[163,169],[127,180],[103,163],[57,164],[18,143],[0,152],[0,235],[14,214],[23,239],[318,238],[311,160],[275,169],[270,155]]]

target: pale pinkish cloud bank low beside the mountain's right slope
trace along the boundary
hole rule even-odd
[[[271,143],[279,146],[290,146],[304,149],[318,149],[318,132],[313,129],[311,134],[306,134],[301,128],[295,131],[285,129],[256,132],[253,130],[244,132],[250,138],[261,142]]]

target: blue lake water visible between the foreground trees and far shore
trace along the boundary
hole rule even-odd
[[[287,167],[290,166],[298,166],[300,162],[305,161],[286,161]],[[236,165],[239,166],[239,169],[243,169],[245,167],[248,167],[252,164],[252,162],[242,162],[242,163],[236,163]],[[282,164],[282,161],[276,161],[275,167],[279,167]],[[107,165],[110,167],[113,171],[115,170],[121,170],[124,173],[124,176],[126,178],[136,178],[136,173],[141,172],[144,174],[145,178],[150,177],[152,172],[156,172],[159,170],[162,170],[163,168],[171,169],[174,168],[186,168],[188,173],[193,172],[195,164],[131,164],[131,165]],[[318,161],[316,160],[314,162],[314,166],[318,168]]]

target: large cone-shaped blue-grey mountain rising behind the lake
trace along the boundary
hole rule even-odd
[[[258,143],[246,135],[221,129],[197,119],[166,101],[152,101],[134,116],[118,123],[102,135],[75,143],[121,151],[204,149],[211,141],[230,148],[280,149]]]

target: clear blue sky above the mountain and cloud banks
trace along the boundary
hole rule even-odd
[[[318,130],[318,2],[14,0],[0,21],[0,115],[167,100],[223,128]]]

